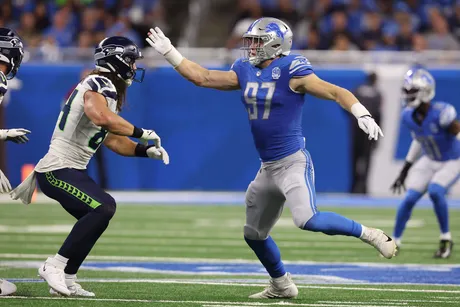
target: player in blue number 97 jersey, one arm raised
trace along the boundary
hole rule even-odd
[[[293,298],[298,294],[286,273],[280,251],[269,236],[284,204],[300,229],[360,238],[384,257],[396,252],[383,231],[365,227],[333,212],[316,208],[314,170],[302,136],[302,106],[306,93],[335,100],[357,118],[369,139],[383,136],[368,110],[348,90],[325,82],[310,62],[290,54],[292,31],[275,18],[261,18],[243,35],[247,57],[230,71],[208,70],[185,59],[159,28],[150,29],[147,42],[186,79],[202,87],[241,89],[249,113],[254,143],[262,160],[246,192],[244,238],[269,273],[270,285],[250,298]]]

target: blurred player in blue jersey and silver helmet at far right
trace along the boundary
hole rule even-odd
[[[393,191],[399,193],[405,189],[404,182],[409,175],[406,197],[396,215],[394,239],[400,246],[412,209],[428,192],[441,230],[439,249],[434,257],[448,258],[453,242],[446,194],[460,175],[460,123],[457,112],[448,103],[431,102],[435,95],[435,80],[425,69],[409,70],[402,90],[405,106],[402,121],[411,131],[413,141],[406,163],[392,185]]]

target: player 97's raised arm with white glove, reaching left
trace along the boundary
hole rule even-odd
[[[187,80],[197,86],[218,90],[237,90],[240,88],[234,71],[209,70],[187,60],[171,44],[160,28],[150,29],[146,41]]]

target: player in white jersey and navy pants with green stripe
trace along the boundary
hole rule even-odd
[[[169,163],[160,137],[153,130],[137,128],[117,115],[128,86],[143,80],[144,70],[136,68],[136,60],[141,57],[137,45],[128,38],[113,36],[99,43],[94,55],[96,69],[76,86],[63,106],[48,153],[11,192],[13,199],[30,203],[37,178],[41,191],[78,220],[59,252],[38,269],[53,295],[95,296],[82,289],[76,274],[116,209],[113,197],[86,170],[100,144],[122,156]],[[129,136],[140,139],[142,144]],[[146,145],[149,140],[155,145]]]

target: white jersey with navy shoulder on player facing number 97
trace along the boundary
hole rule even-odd
[[[107,136],[107,130],[95,125],[85,114],[86,91],[100,93],[109,109],[117,113],[117,91],[106,77],[89,75],[74,89],[54,128],[48,153],[35,168],[49,172],[60,168],[85,169],[89,160]]]

